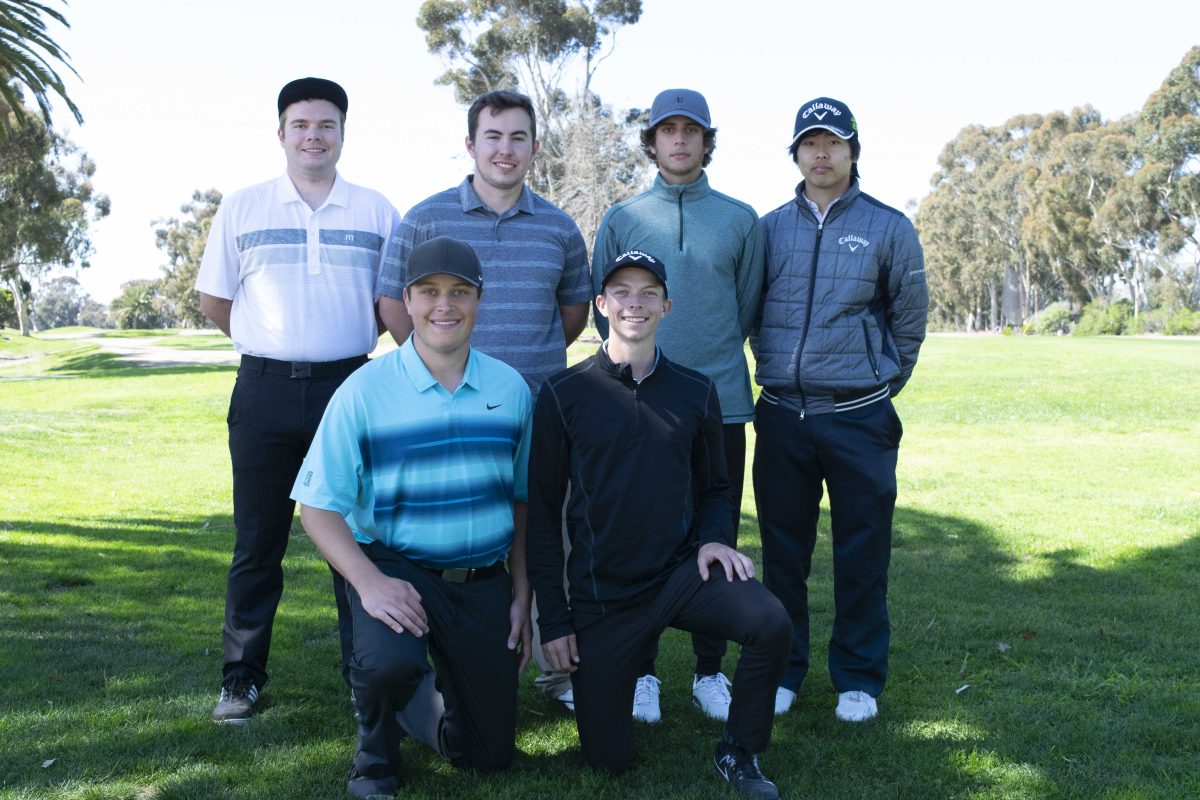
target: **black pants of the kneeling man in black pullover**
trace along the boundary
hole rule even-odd
[[[688,559],[666,583],[642,597],[607,606],[594,618],[575,614],[580,667],[572,676],[575,721],[583,758],[594,768],[623,772],[634,759],[634,703],[642,654],[667,627],[742,645],[733,674],[726,730],[750,752],[770,742],[775,686],[787,666],[792,624],[779,601],[757,581],[726,581],[721,567],[700,579]]]

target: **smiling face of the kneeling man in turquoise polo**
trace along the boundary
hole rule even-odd
[[[466,355],[479,315],[480,293],[456,275],[427,275],[404,289],[418,351],[440,357]]]

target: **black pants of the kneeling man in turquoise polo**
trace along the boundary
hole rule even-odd
[[[404,711],[430,672],[437,690],[404,722],[455,766],[502,770],[512,762],[517,723],[518,655],[509,650],[512,581],[508,572],[470,583],[448,583],[408,559],[374,543],[362,546],[379,570],[408,581],[421,596],[430,621],[422,637],[396,633],[362,609],[348,583],[353,618],[350,685],[359,711],[354,765],[370,778],[395,777],[400,769]]]

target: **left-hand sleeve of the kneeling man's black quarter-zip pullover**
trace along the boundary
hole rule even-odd
[[[526,570],[538,599],[542,642],[570,634],[571,614],[563,590],[563,500],[569,462],[566,432],[553,387],[544,384],[533,413],[529,451],[529,517]]]

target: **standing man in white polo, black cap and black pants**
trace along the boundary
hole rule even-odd
[[[378,341],[380,261],[400,215],[337,174],[348,106],[332,80],[283,86],[287,172],[224,199],[196,281],[204,315],[241,354],[228,416],[236,540],[216,722],[254,712],[283,591],[292,483],[329,398]]]

